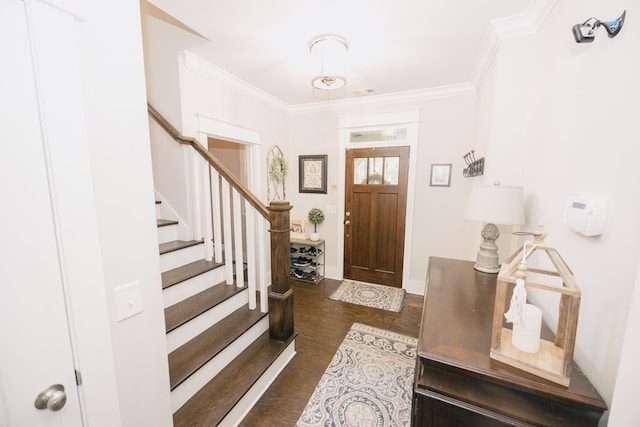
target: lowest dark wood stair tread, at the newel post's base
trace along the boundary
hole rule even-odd
[[[174,426],[218,425],[292,340],[272,340],[264,332],[173,414]]]

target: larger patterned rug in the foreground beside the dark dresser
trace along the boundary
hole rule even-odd
[[[354,323],[296,427],[411,423],[417,339]]]

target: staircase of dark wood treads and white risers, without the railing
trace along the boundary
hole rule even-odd
[[[174,425],[237,425],[295,355],[293,337],[270,338],[267,313],[205,260],[203,240],[157,223]]]

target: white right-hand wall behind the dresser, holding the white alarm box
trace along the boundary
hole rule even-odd
[[[634,16],[634,6],[558,2],[536,34],[503,41],[479,90],[476,130],[476,147],[492,165],[487,179],[506,176],[524,186],[528,227],[545,223],[547,240],[576,276],[582,301],[575,358],[609,403],[640,254],[640,28],[632,18],[614,39],[600,29],[593,43],[576,44],[571,27],[591,16],[617,18],[624,9]],[[563,204],[574,195],[608,201],[602,236],[563,225]],[[557,308],[540,304],[554,324]]]

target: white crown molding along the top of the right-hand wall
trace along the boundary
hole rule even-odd
[[[557,3],[558,0],[534,0],[525,13],[491,22],[471,78],[472,86],[478,88],[482,84],[503,40],[538,31]]]

